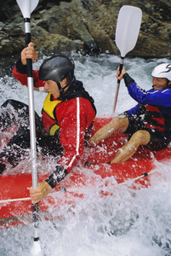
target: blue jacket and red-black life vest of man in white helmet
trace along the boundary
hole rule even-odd
[[[127,111],[128,116],[137,115],[145,123],[146,129],[157,130],[171,140],[171,88],[143,90],[128,73],[123,75],[128,94],[138,104]]]

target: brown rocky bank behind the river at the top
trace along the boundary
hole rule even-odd
[[[40,0],[31,14],[31,40],[39,53],[119,55],[115,44],[117,15],[123,5],[142,12],[140,35],[129,56],[171,57],[170,0]],[[15,0],[0,3],[2,62],[20,55],[25,47],[24,20]]]

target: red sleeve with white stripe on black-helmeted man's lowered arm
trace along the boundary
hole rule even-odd
[[[64,152],[59,164],[64,166],[67,172],[71,172],[71,169],[83,154],[88,115],[91,117],[92,113],[94,113],[92,107],[86,113],[82,101],[87,100],[75,98],[66,102],[66,106],[63,109],[63,117],[59,121],[60,144]]]

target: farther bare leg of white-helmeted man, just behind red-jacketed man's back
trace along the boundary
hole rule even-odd
[[[88,140],[88,146],[94,147],[96,143],[99,143],[102,140],[111,137],[111,135],[116,131],[126,131],[128,128],[128,119],[127,118],[120,118],[115,117],[111,119],[107,125],[100,128],[99,131],[96,131],[94,136]]]

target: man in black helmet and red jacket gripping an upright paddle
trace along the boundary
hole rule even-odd
[[[14,67],[14,78],[27,86],[26,59],[37,60],[34,44],[22,50],[20,60]],[[83,154],[84,143],[94,123],[96,109],[94,100],[84,90],[83,83],[74,76],[74,62],[66,55],[55,55],[43,61],[39,71],[33,70],[36,90],[48,92],[42,117],[36,115],[37,151],[53,155],[56,166],[50,170],[46,181],[37,189],[30,189],[31,201],[42,200],[66,175]],[[28,154],[30,131],[28,106],[22,102],[8,100],[0,113],[0,129],[4,131],[12,124],[18,131],[3,148],[0,158],[16,166]]]

